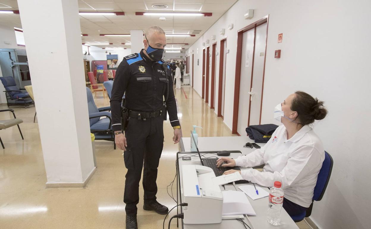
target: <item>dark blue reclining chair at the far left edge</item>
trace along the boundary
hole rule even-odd
[[[5,88],[4,92],[6,94],[6,103],[8,107],[12,105],[24,105],[24,107],[28,107],[34,104],[29,94],[27,92],[22,92],[21,89],[18,88],[13,76],[0,77],[0,80]]]

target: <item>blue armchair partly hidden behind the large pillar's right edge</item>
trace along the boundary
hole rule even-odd
[[[111,112],[109,112],[111,107],[97,108],[93,94],[88,87],[86,88],[86,95],[88,97],[90,132],[95,135],[95,140],[113,141],[114,149],[116,149],[115,134],[112,131]]]

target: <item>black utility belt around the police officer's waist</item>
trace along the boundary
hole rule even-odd
[[[152,112],[145,112],[145,111],[132,111],[128,110],[125,107],[121,107],[121,127],[122,131],[126,130],[126,127],[129,123],[129,117],[131,118],[138,118],[138,120],[147,121],[147,118],[157,118],[160,116],[164,117],[164,120],[167,120],[167,109],[166,104],[162,104],[162,110],[160,111],[152,111]]]

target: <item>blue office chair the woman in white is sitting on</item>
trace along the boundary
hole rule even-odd
[[[311,206],[309,206],[308,209],[306,209],[305,212],[302,212],[301,214],[298,214],[298,215],[291,216],[291,219],[294,220],[294,222],[300,222],[301,220],[304,219],[304,217],[311,216],[313,201],[314,200],[320,201],[325,194],[328,181],[330,180],[333,164],[334,164],[334,160],[332,160],[331,155],[325,151],[325,160],[322,163],[322,168],[321,170],[319,170],[319,173],[318,173],[317,184],[316,184],[316,187],[314,187],[312,204]]]

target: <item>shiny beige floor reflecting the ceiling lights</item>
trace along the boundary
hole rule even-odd
[[[190,86],[175,90],[178,115],[184,135],[188,137],[192,125],[200,137],[232,136],[220,117],[209,109]],[[109,105],[108,99],[97,93],[98,107]],[[0,109],[7,109],[0,105]],[[121,150],[113,143],[96,141],[97,170],[85,188],[45,188],[46,173],[40,144],[39,129],[33,123],[35,108],[12,108],[20,124],[24,140],[17,127],[0,130],[5,149],[0,150],[0,228],[125,228],[123,203],[125,166]],[[0,120],[12,118],[10,112],[0,112]],[[166,187],[174,179],[175,154],[178,145],[172,141],[173,129],[164,122],[165,143],[158,174],[160,203],[173,207]],[[143,196],[142,184],[139,195]],[[169,189],[171,192],[171,189]],[[175,194],[176,189],[173,188]],[[142,209],[138,204],[138,225],[141,229],[162,228],[164,216]],[[176,213],[173,211],[171,215]],[[175,220],[172,223],[175,228]],[[309,226],[302,222],[300,228]]]

